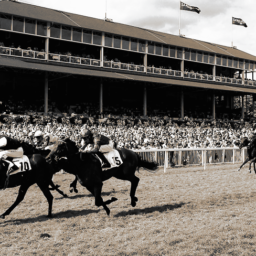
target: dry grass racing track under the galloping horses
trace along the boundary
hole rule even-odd
[[[0,221],[3,255],[256,255],[256,175],[238,165],[185,167],[141,171],[135,208],[130,183],[104,183],[103,208],[78,185],[79,193],[62,198],[55,191],[53,219],[34,185],[24,201]],[[57,174],[54,181],[68,192],[73,176]],[[18,188],[1,191],[4,212]]]

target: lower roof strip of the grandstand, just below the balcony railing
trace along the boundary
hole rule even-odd
[[[183,79],[175,80],[175,79],[170,79],[170,78],[168,79],[163,77],[117,73],[113,71],[102,71],[102,70],[92,70],[87,68],[57,66],[55,64],[51,65],[49,63],[45,63],[45,64],[34,63],[34,62],[32,63],[32,62],[24,61],[22,59],[6,58],[2,56],[0,56],[0,68],[1,67],[21,68],[21,69],[38,70],[38,71],[46,71],[46,72],[57,72],[57,73],[65,73],[65,74],[72,74],[72,75],[114,78],[114,79],[122,79],[122,80],[147,82],[147,83],[160,83],[160,84],[168,84],[168,85],[198,87],[198,88],[205,88],[205,89],[215,89],[215,90],[242,92],[242,93],[253,93],[253,94],[256,93],[256,90],[254,88],[249,88],[245,86],[234,87],[234,86],[228,86],[223,84],[191,82]]]

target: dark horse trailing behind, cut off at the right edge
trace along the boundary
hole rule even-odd
[[[254,166],[254,172],[256,173],[255,170],[255,161],[256,161],[256,141],[252,140],[249,141],[249,139],[247,137],[244,137],[241,139],[240,144],[239,144],[239,148],[242,149],[243,147],[247,147],[247,153],[248,153],[248,157],[245,159],[245,161],[243,162],[243,164],[239,167],[238,171],[240,171],[242,169],[242,167],[249,162],[249,171],[251,173],[251,165],[253,163]]]

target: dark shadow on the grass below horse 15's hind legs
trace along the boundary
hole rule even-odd
[[[185,203],[180,204],[166,204],[161,206],[154,206],[150,208],[144,208],[144,209],[134,209],[129,211],[122,211],[115,215],[115,217],[124,217],[128,215],[140,215],[140,214],[149,214],[153,212],[165,212],[165,211],[172,211],[177,208],[181,208]]]

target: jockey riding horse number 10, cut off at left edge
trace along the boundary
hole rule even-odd
[[[15,157],[23,157],[23,153],[24,152],[20,141],[12,139],[8,136],[0,137],[0,159],[10,162],[9,173],[19,169],[19,167],[15,165],[12,160]]]

